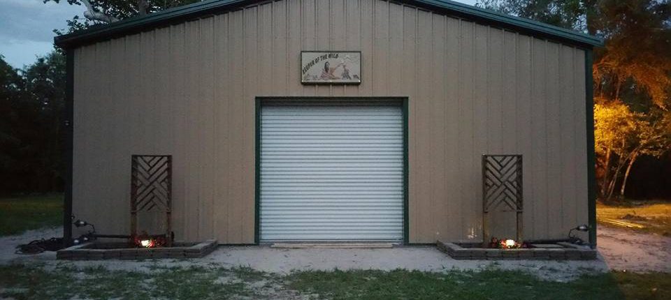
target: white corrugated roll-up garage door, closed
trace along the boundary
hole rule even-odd
[[[261,241],[403,239],[403,112],[261,108]]]

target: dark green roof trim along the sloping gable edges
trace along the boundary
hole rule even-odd
[[[78,47],[89,43],[96,43],[119,36],[124,36],[140,31],[147,31],[157,27],[194,20],[199,17],[216,15],[226,11],[235,10],[253,3],[268,2],[268,0],[208,0],[192,3],[187,6],[170,8],[158,13],[152,13],[143,17],[131,17],[126,20],[114,22],[108,25],[100,25],[86,30],[68,33],[54,38],[58,47],[64,49]],[[428,10],[437,10],[441,13],[456,15],[467,20],[484,22],[495,27],[521,31],[534,36],[558,40],[562,43],[570,43],[579,47],[602,47],[603,40],[596,36],[585,33],[563,29],[561,27],[536,22],[533,20],[498,13],[493,10],[478,8],[449,0],[397,0],[399,3],[407,3]]]

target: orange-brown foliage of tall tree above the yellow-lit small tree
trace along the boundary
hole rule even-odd
[[[666,109],[671,87],[671,3],[602,0],[598,27],[606,47],[596,52],[595,94],[628,105]],[[647,100],[652,103],[640,103]]]

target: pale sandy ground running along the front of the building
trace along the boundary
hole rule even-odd
[[[533,261],[453,260],[431,246],[403,246],[388,249],[278,249],[268,246],[221,246],[214,253],[198,260],[136,261],[57,261],[53,252],[38,255],[17,255],[15,247],[34,239],[57,237],[59,229],[32,230],[19,236],[0,238],[0,264],[43,264],[45,267],[72,265],[74,267],[103,266],[108,269],[147,271],[151,267],[191,266],[251,267],[271,273],[292,270],[331,269],[416,269],[445,271],[450,269],[482,270],[485,268],[514,269],[533,273],[547,280],[565,281],[582,273],[609,269],[647,272],[671,272],[671,238],[639,234],[625,230],[600,227],[598,233],[599,259],[593,261]]]

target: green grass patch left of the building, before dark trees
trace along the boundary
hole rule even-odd
[[[0,198],[0,236],[63,224],[63,195]]]

